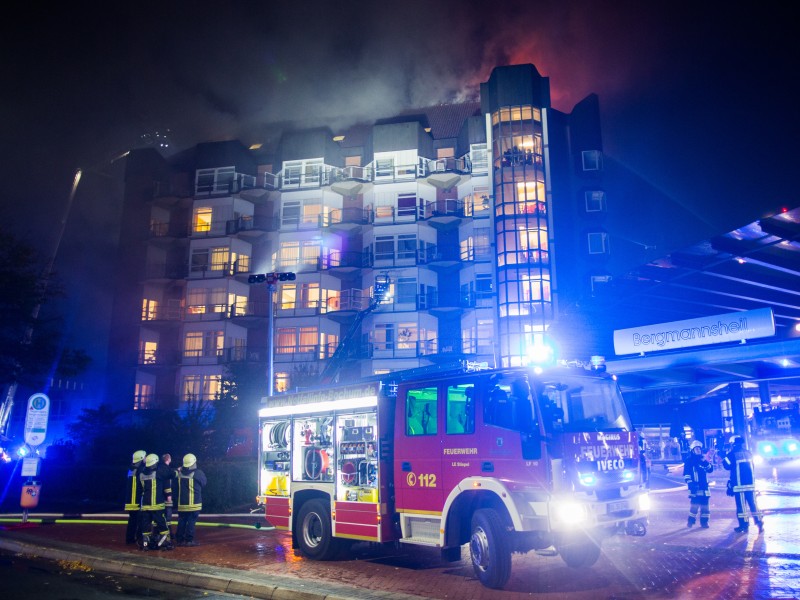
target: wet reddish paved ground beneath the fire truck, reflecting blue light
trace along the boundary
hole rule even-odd
[[[244,569],[268,576],[337,583],[362,590],[438,599],[552,598],[800,598],[800,493],[797,480],[759,481],[765,531],[746,534],[736,526],[733,499],[725,495],[726,474],[715,474],[711,527],[687,528],[689,501],[680,477],[656,476],[663,489],[653,494],[648,535],[615,536],[591,569],[567,567],[557,556],[514,555],[504,590],[489,590],[475,579],[469,553],[443,562],[436,549],[359,543],[350,557],[308,561],[292,550],[291,536],[266,528],[200,527],[196,548],[157,553],[164,560]],[[254,516],[252,522],[258,520]],[[1,535],[1,533],[0,533]],[[30,535],[64,539],[99,548],[137,550],[120,544],[123,526],[55,525]],[[141,553],[140,553],[141,554]]]

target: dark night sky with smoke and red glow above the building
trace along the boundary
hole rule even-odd
[[[114,251],[124,162],[113,161],[156,133],[177,151],[257,142],[276,121],[344,127],[477,99],[494,66],[530,62],[559,110],[596,93],[606,154],[709,231],[800,204],[788,2],[33,4],[0,25],[0,218],[49,256],[86,169],[56,269],[69,334],[100,363],[113,276],[101,257]]]

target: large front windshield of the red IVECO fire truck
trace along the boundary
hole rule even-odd
[[[632,430],[622,394],[612,380],[565,376],[536,388],[550,433]]]

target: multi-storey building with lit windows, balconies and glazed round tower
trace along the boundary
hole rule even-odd
[[[276,139],[129,155],[116,405],[213,400],[235,363],[277,392],[523,364],[609,278],[597,98],[554,110],[533,65],[495,69],[479,103]]]

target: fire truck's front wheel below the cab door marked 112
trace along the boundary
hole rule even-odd
[[[472,515],[469,554],[483,585],[499,590],[506,584],[511,576],[511,547],[496,511],[482,508]]]

